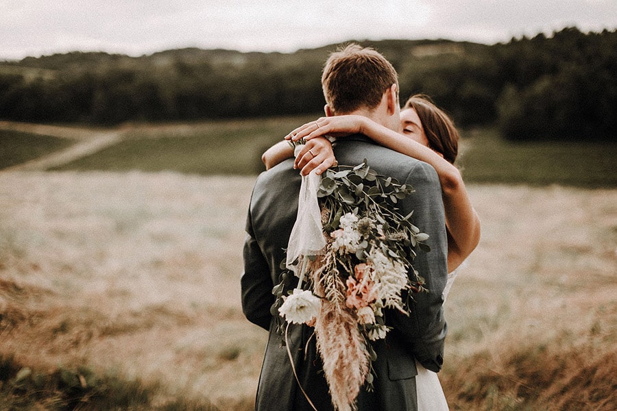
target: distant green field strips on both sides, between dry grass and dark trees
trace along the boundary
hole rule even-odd
[[[115,130],[123,133],[116,144],[53,170],[255,175],[263,171],[261,154],[267,147],[316,116],[125,125]],[[66,144],[58,138],[0,132],[0,169]],[[613,188],[617,187],[616,158],[617,142],[513,143],[485,128],[463,130],[457,165],[470,183]]]

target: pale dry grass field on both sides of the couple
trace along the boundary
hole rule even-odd
[[[250,410],[239,307],[254,177],[0,174],[0,356]],[[453,410],[612,410],[617,190],[470,186],[483,239],[446,303]]]

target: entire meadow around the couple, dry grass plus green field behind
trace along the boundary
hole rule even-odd
[[[129,125],[54,171],[0,164],[0,409],[251,410],[267,337],[239,307],[252,160],[298,121]],[[614,410],[615,146],[504,145],[463,140],[483,234],[446,303],[450,408]],[[542,178],[511,177],[522,150],[548,159]],[[577,182],[550,165],[588,155]]]

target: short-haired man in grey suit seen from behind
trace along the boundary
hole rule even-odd
[[[326,115],[360,114],[393,130],[400,127],[396,71],[376,51],[351,45],[332,53],[324,67],[322,86]],[[426,369],[439,371],[446,336],[441,295],[447,277],[447,244],[437,173],[428,164],[375,145],[362,135],[337,141],[334,150],[339,164],[355,166],[367,159],[377,173],[413,186],[415,193],[400,201],[398,208],[402,215],[413,210],[414,224],[430,235],[431,251],[418,253],[414,260],[429,292],[413,296],[409,316],[387,312],[387,325],[392,329],[385,340],[374,344],[374,390],[362,389],[356,399],[360,411],[416,410],[415,360]],[[332,410],[315,338],[311,338],[313,329],[292,324],[289,344],[284,347],[270,312],[274,303],[271,290],[279,282],[280,262],[296,219],[300,182],[292,159],[262,173],[254,186],[247,218],[243,311],[249,321],[269,331],[256,398],[258,411]]]

